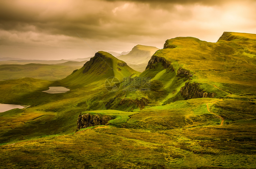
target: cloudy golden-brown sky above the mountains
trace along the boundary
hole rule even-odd
[[[255,0],[1,0],[0,58],[86,58],[137,44],[163,48],[224,31],[256,34]]]

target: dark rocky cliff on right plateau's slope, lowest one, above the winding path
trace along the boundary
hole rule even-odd
[[[186,100],[191,98],[214,98],[214,96],[216,96],[216,93],[207,93],[203,91],[203,89],[199,87],[199,83],[196,82],[186,82],[185,86],[181,87],[180,92]]]

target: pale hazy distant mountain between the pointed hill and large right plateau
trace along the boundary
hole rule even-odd
[[[157,47],[138,44],[128,54],[118,56],[118,59],[124,60],[131,68],[142,72],[157,50],[159,50]]]

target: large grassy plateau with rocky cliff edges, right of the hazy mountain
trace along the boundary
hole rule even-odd
[[[234,39],[238,33],[224,33],[220,39],[227,34]],[[255,42],[239,40],[241,36],[236,41],[216,43],[192,37],[169,39],[164,49],[152,56],[141,76],[162,82],[161,87],[171,92],[164,100],[179,94],[190,99],[255,93]]]

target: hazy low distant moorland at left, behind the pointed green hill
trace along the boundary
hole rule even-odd
[[[0,65],[0,81],[32,77],[44,80],[60,80],[80,68],[86,61],[68,61],[59,64]]]

